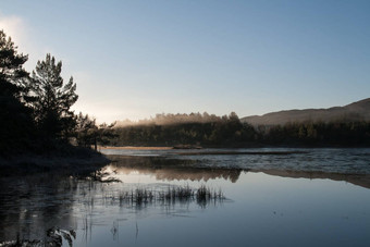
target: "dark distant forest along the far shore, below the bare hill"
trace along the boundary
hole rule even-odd
[[[137,123],[106,126],[99,136],[100,145],[108,146],[359,147],[370,146],[370,122],[307,121],[254,127],[234,112],[223,116],[157,114]]]

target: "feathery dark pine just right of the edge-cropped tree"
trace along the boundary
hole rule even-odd
[[[37,97],[34,111],[38,126],[47,136],[65,139],[76,124],[71,107],[78,96],[73,77],[64,84],[61,72],[62,62],[55,62],[49,53],[45,61],[37,62],[33,72],[33,90]]]

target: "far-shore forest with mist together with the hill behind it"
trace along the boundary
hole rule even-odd
[[[235,112],[157,114],[106,127],[100,145],[184,147],[370,146],[370,99],[330,109],[291,110],[239,119]],[[316,114],[317,113],[317,114]],[[252,122],[255,121],[255,122]],[[275,122],[274,122],[275,121]],[[104,125],[107,126],[107,125]],[[88,133],[82,145],[90,145]],[[84,143],[85,141],[85,143]]]

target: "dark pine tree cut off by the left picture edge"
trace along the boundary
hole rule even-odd
[[[23,69],[27,55],[17,53],[11,38],[0,30],[0,155],[22,152],[34,131],[29,76]]]

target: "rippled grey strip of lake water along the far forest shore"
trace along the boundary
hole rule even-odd
[[[104,150],[110,157],[144,157],[138,164],[243,170],[285,170],[338,174],[370,174],[369,148],[261,148],[194,150]],[[113,155],[113,156],[111,156]]]

